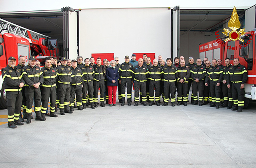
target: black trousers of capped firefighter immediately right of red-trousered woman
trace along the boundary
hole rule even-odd
[[[132,98],[132,90],[131,90],[132,78],[120,78],[120,80],[121,80],[120,87],[121,87],[122,102],[125,101],[125,88],[127,90],[127,102],[132,102],[132,100],[131,100],[131,98]],[[135,87],[135,85],[134,85],[134,87]],[[145,89],[146,89],[146,86],[145,86]],[[146,94],[146,90],[145,90],[145,94]]]

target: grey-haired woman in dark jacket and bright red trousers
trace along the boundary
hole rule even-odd
[[[113,95],[113,106],[116,106],[116,89],[118,86],[118,68],[116,68],[116,62],[110,61],[109,68],[106,69],[106,78],[108,86],[108,106],[112,106],[112,95]]]

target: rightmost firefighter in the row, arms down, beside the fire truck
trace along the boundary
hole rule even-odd
[[[234,58],[234,65],[228,70],[228,85],[232,83],[233,111],[242,112],[244,108],[244,84],[247,80],[246,67],[240,64],[239,58]]]

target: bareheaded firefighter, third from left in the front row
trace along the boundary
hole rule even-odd
[[[56,105],[56,69],[51,65],[51,58],[45,59],[45,66],[42,68],[44,82],[41,86],[42,107],[41,112],[46,113],[50,98],[50,117],[58,117],[55,114]]]

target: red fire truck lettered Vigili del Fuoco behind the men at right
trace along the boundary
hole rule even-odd
[[[224,39],[218,38],[201,44],[199,46],[199,58],[208,57],[210,62],[213,58],[220,58],[222,62],[228,57],[233,64],[234,58],[239,58],[240,64],[246,66],[248,71],[248,79],[245,84],[245,102],[246,108],[249,104],[249,99],[256,100],[256,29],[246,32],[240,36],[244,42],[240,40],[228,40],[224,43]],[[225,65],[223,63],[223,65]]]

